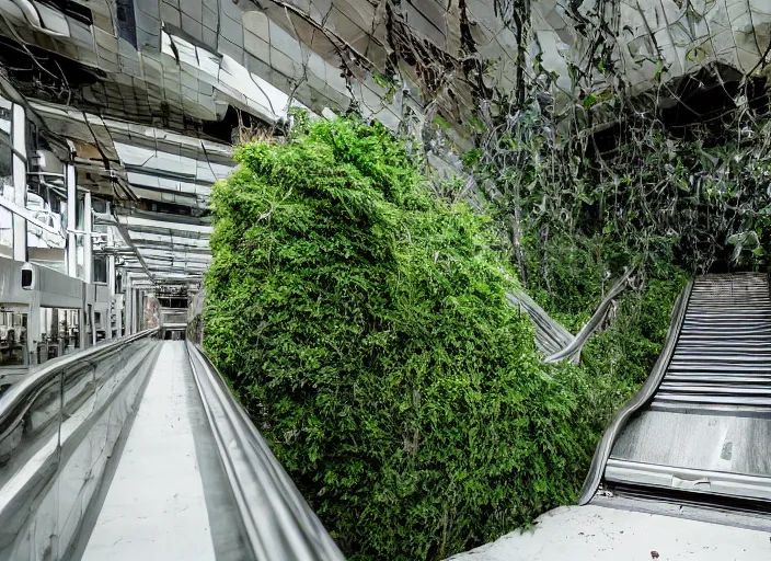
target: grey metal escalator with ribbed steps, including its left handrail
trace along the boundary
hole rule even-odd
[[[770,443],[768,276],[699,277],[651,378],[602,438],[580,503],[618,494],[768,513]]]

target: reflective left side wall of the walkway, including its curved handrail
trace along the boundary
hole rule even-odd
[[[60,358],[0,399],[0,559],[61,559],[147,373],[156,330]]]

